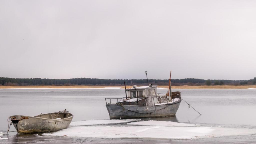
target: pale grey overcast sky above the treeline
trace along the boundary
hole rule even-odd
[[[0,77],[251,79],[256,1],[0,0]]]

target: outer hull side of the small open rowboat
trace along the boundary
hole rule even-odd
[[[15,117],[17,120],[26,117],[26,119],[19,120],[16,124],[13,122],[13,126],[18,133],[50,132],[66,129],[73,119],[73,115],[64,119],[48,119],[21,115],[10,117]]]

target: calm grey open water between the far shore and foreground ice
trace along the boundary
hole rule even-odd
[[[166,93],[158,89],[157,92]],[[188,109],[182,101],[176,117],[158,118],[205,125],[256,126],[256,89],[244,90],[175,90],[202,115]],[[0,130],[7,130],[11,115],[36,116],[67,109],[73,121],[109,119],[105,97],[124,97],[115,89],[0,89]],[[14,127],[11,130],[15,131]]]

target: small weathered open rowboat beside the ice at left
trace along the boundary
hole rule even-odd
[[[18,133],[37,133],[66,129],[71,123],[73,115],[65,109],[34,117],[15,115],[10,116],[10,119]]]

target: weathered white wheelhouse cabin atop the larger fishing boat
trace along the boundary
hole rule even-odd
[[[154,97],[157,95],[156,91],[157,86],[141,86],[137,87],[133,85],[133,88],[126,89],[128,98],[146,98],[146,97]]]

